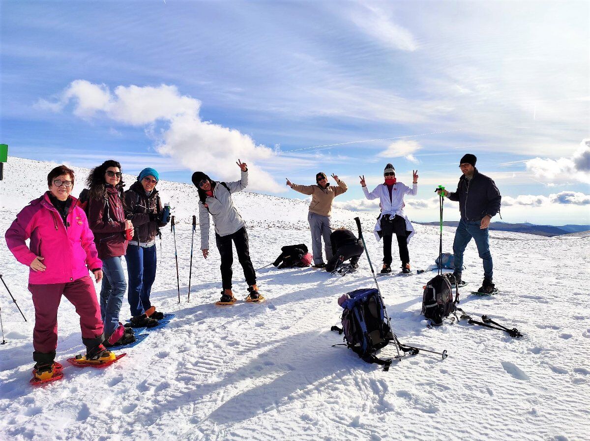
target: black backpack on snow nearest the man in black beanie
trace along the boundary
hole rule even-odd
[[[453,286],[455,298],[453,299]],[[433,325],[440,325],[442,321],[457,310],[459,289],[453,274],[439,274],[430,279],[424,287],[422,295],[422,314]]]

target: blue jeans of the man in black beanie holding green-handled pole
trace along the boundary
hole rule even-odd
[[[455,241],[453,242],[453,254],[455,259],[455,274],[461,274],[463,268],[463,252],[471,238],[476,241],[477,251],[480,258],[483,259],[483,277],[491,281],[494,265],[491,261],[490,254],[490,234],[489,229],[480,229],[480,221],[468,222],[461,219],[455,232]],[[458,268],[458,270],[457,270]]]

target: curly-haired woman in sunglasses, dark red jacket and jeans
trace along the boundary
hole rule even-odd
[[[127,289],[122,256],[127,251],[126,230],[133,235],[133,224],[123,212],[123,176],[121,164],[110,159],[91,170],[88,222],[94,243],[103,261],[103,286],[100,290],[100,315],[104,323],[104,345],[133,343],[133,331],[125,333],[119,312]]]

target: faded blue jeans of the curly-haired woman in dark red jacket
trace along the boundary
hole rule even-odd
[[[110,336],[119,326],[119,312],[126,289],[121,256],[103,259],[100,317],[104,323],[104,335]]]

